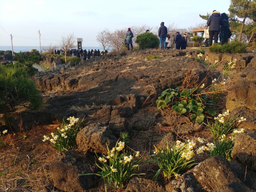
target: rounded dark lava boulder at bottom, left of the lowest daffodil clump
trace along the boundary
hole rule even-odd
[[[94,157],[73,150],[59,152],[50,164],[50,174],[54,186],[68,192],[89,190],[97,182],[96,175],[78,174],[96,173]]]

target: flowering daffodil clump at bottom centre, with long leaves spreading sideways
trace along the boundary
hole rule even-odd
[[[119,145],[117,147],[117,145]],[[111,185],[114,183],[114,190],[120,187],[121,189],[124,188],[125,184],[127,184],[130,178],[134,175],[142,175],[145,173],[138,173],[139,166],[145,162],[151,161],[151,159],[146,161],[141,161],[143,155],[139,155],[139,151],[134,153],[128,153],[126,151],[121,152],[125,147],[124,142],[118,142],[116,146],[109,150],[108,145],[108,156],[102,154],[101,157],[98,157],[96,154],[100,165],[96,165],[101,169],[97,173],[88,173],[88,174],[81,174],[81,175],[90,175],[96,174],[104,181],[108,182],[108,186],[105,186],[105,190],[107,191]],[[107,161],[109,159],[109,162]]]

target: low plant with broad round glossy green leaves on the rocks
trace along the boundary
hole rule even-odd
[[[190,119],[195,122],[204,120],[203,113],[216,115],[215,109],[211,107],[215,103],[205,94],[200,94],[198,87],[192,89],[177,87],[164,90],[156,100],[157,108],[165,108],[170,102],[172,102],[172,110],[179,114],[189,114]]]

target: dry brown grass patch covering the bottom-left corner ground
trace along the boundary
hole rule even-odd
[[[49,143],[43,143],[42,137],[57,126],[37,126],[30,131],[6,135],[6,146],[0,149],[0,191],[54,191],[49,164],[56,150]],[[23,135],[26,135],[24,140]],[[25,180],[15,186],[17,179]]]

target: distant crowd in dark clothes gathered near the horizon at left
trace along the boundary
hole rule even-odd
[[[92,49],[91,51],[88,50],[86,51],[86,49],[73,49],[73,50],[69,50],[67,51],[67,56],[70,57],[79,57],[81,59],[83,59],[84,61],[86,61],[86,59],[91,59],[91,58],[95,58],[95,57],[99,57],[100,55],[105,55],[107,54],[108,51],[107,49],[103,49],[102,51],[100,51],[99,49]],[[54,55],[64,55],[64,51],[62,49],[55,49],[54,50]]]

